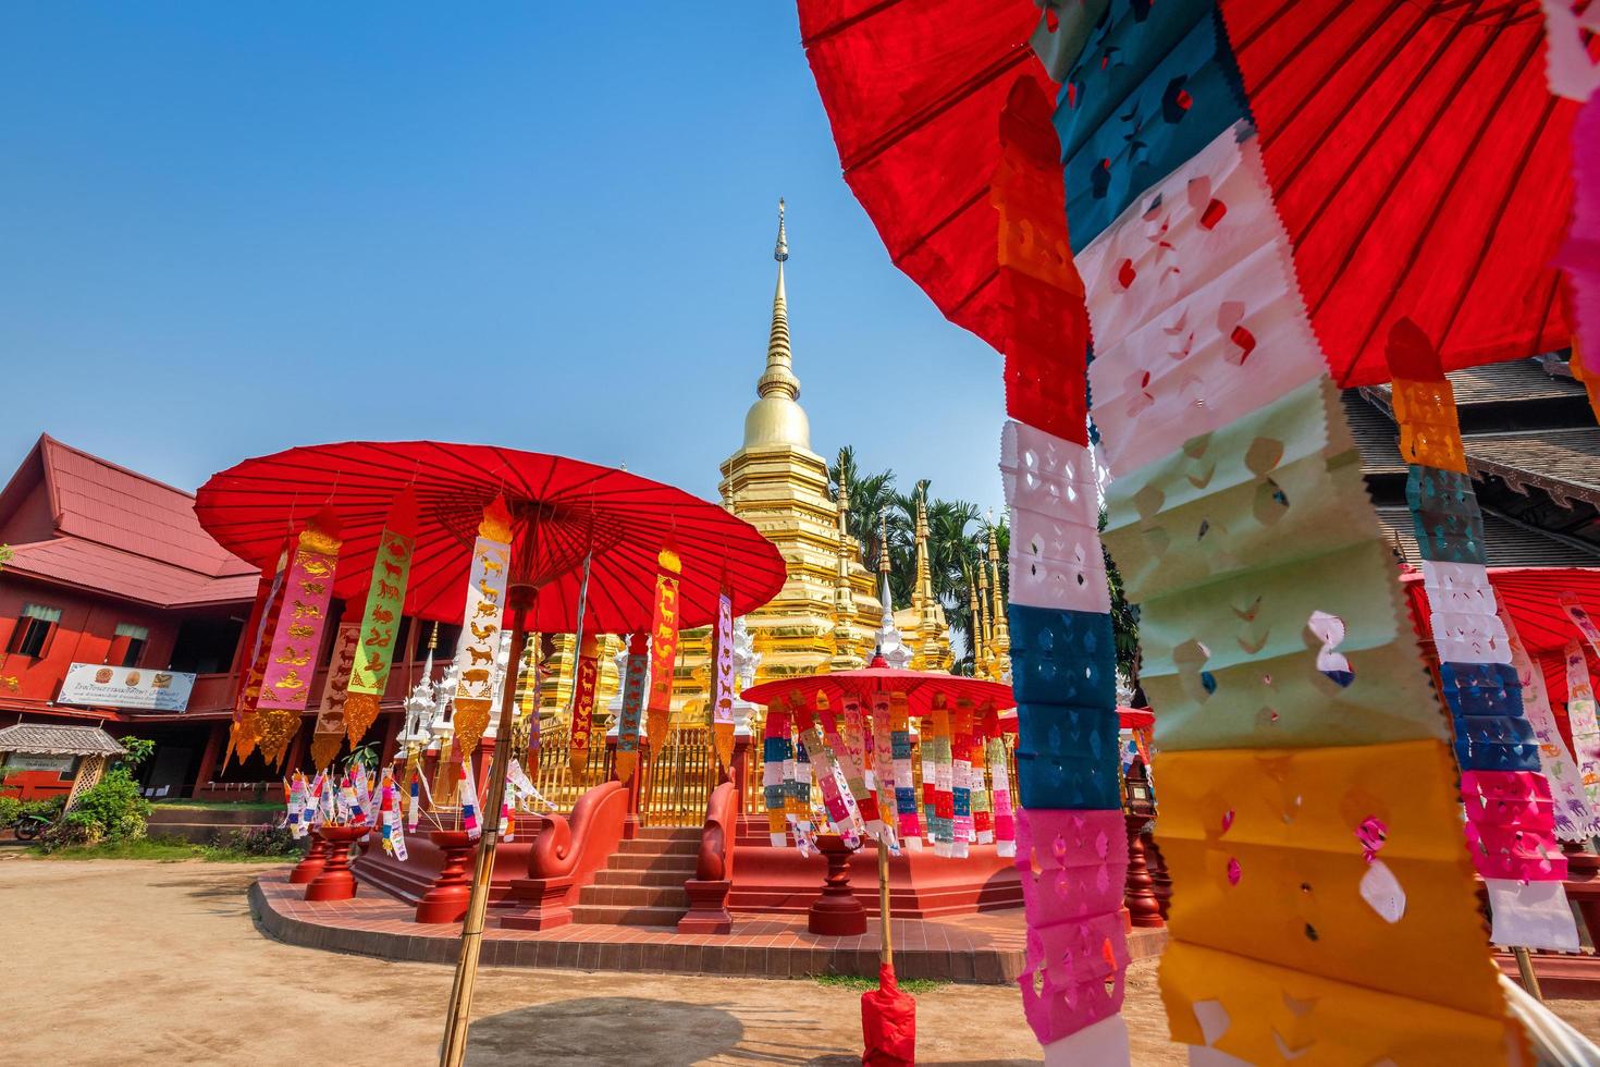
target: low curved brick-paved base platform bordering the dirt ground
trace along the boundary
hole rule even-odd
[[[286,872],[262,875],[250,904],[262,929],[278,941],[386,960],[454,963],[461,925],[421,925],[413,909],[363,886],[352,901],[307,904],[304,886]],[[1022,971],[1022,909],[952,918],[893,920],[894,971],[902,979],[1005,985]],[[1160,953],[1165,929],[1128,934],[1131,958]],[[861,937],[821,937],[802,915],[734,913],[730,934],[680,934],[670,926],[571,923],[557,929],[502,929],[491,913],[483,933],[483,966],[653,971],[720,977],[877,977],[877,921]]]

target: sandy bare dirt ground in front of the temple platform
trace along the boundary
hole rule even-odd
[[[5,849],[10,853],[11,849]],[[0,1001],[13,1064],[432,1064],[451,969],[264,937],[245,889],[264,867],[35,861],[0,854]],[[1554,1001],[1586,1033],[1600,1005]],[[829,1064],[859,1061],[859,993],[808,981],[485,968],[467,1062]],[[1133,1062],[1166,1043],[1155,961],[1128,974]],[[918,997],[925,1064],[1037,1064],[1010,987]]]

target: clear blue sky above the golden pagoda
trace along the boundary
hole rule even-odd
[[[779,194],[813,448],[998,506],[1000,358],[890,264],[790,3],[0,5],[0,467],[432,437],[714,496]]]

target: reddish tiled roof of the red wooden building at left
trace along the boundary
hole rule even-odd
[[[10,571],[162,608],[248,601],[258,571],[200,528],[194,494],[45,435],[38,464],[56,536],[14,544]]]

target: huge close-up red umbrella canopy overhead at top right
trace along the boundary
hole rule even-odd
[[[894,264],[994,344],[987,192],[1006,90],[1019,75],[1072,83],[1125,62],[1099,46],[1110,16],[1093,24],[1094,5],[1077,3],[1042,16],[1032,0],[798,2],[845,179]],[[1538,0],[1218,8],[1339,384],[1389,379],[1384,342],[1402,317],[1445,370],[1570,341],[1554,259],[1579,106],[1546,85]],[[1050,74],[1027,45],[1042,21],[1038,40],[1059,53]]]

